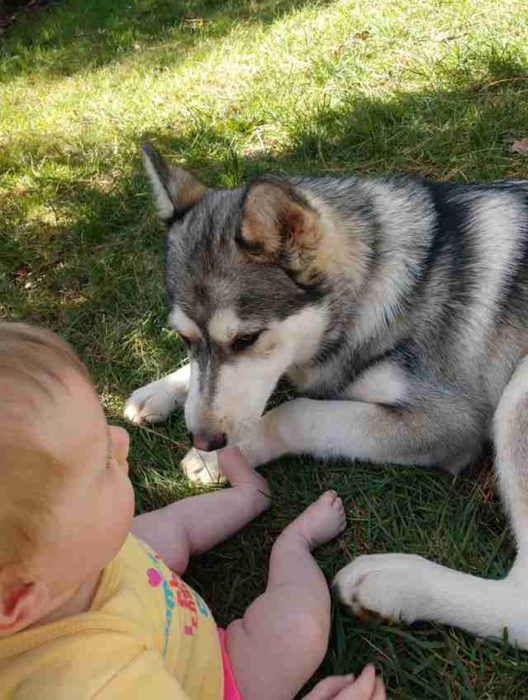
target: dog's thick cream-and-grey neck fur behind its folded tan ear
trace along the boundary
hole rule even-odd
[[[350,181],[349,187],[354,186]],[[372,211],[366,216],[361,206],[354,207],[353,197],[345,216],[319,192],[301,189],[319,213],[322,236],[315,264],[325,286],[321,303],[328,324],[321,349],[291,378],[306,388],[317,377],[310,393],[334,394],[356,371],[408,336],[412,328],[408,300],[421,279],[428,242],[412,220],[408,228],[400,228],[405,217],[398,226],[397,221],[377,219]],[[404,248],[402,238],[407,240]],[[340,376],[345,367],[346,376]]]

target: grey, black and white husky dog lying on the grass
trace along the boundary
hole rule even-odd
[[[150,146],[167,226],[170,325],[189,365],[130,397],[129,419],[185,405],[183,463],[214,450],[438,465],[491,438],[518,554],[499,581],[418,556],[361,556],[335,586],[354,611],[435,620],[528,649],[528,181],[481,185],[264,177],[207,189]],[[304,398],[264,413],[286,375]],[[205,452],[204,452],[205,451]]]

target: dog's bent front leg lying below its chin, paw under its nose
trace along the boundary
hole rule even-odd
[[[253,430],[229,443],[253,467],[305,453],[450,468],[465,463],[472,450],[465,419],[453,410],[454,402],[449,410],[434,405],[412,410],[364,401],[295,399],[268,411]],[[211,483],[221,477],[214,452],[191,450],[182,466],[192,481]]]

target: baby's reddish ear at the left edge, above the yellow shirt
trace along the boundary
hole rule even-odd
[[[40,581],[25,581],[14,567],[0,568],[0,637],[33,624],[48,611],[49,589]]]

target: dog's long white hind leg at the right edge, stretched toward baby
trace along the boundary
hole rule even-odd
[[[528,359],[507,385],[495,414],[496,471],[517,540],[517,559],[502,580],[453,571],[418,556],[358,557],[335,587],[354,611],[392,619],[433,620],[528,649]]]

